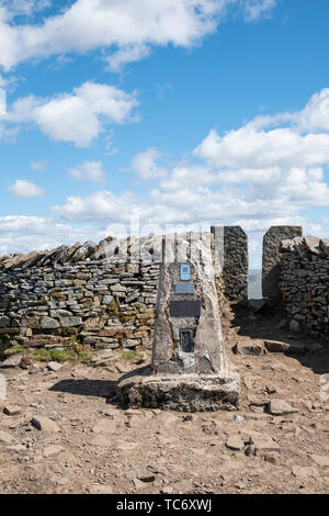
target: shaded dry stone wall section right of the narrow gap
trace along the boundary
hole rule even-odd
[[[279,289],[291,329],[329,340],[329,239],[281,243]]]

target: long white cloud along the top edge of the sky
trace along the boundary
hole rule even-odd
[[[10,3],[26,14],[43,4]],[[120,54],[110,56],[110,66],[112,59],[115,69],[129,55],[132,60],[145,57],[149,45],[194,45],[215,32],[230,11],[251,21],[274,5],[273,0],[77,0],[43,23],[14,24],[7,2],[0,7],[0,66],[10,69],[29,58],[114,46]]]

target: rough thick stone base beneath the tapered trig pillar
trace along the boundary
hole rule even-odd
[[[125,374],[117,382],[122,405],[178,412],[235,411],[240,396],[239,374],[152,374],[150,367]]]

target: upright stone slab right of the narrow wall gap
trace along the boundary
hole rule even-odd
[[[299,237],[302,226],[272,226],[263,237],[262,295],[279,299],[280,281],[280,243],[281,240]]]

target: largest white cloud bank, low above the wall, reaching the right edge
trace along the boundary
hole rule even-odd
[[[179,164],[163,173],[160,169],[160,173],[159,150],[139,153],[133,159],[133,170],[145,180],[157,179],[146,198],[101,191],[86,198],[70,197],[54,211],[67,221],[82,217],[99,224],[109,224],[112,217],[124,223],[135,214],[144,223],[249,221],[254,227],[263,227],[263,221],[293,221],[307,209],[325,209],[329,205],[325,173],[329,134],[300,132],[296,122],[303,120],[309,105],[318,109],[314,101],[318,98],[324,100],[324,92],[300,112],[284,116],[285,126],[273,127],[271,119],[268,127],[263,120],[224,135],[212,130],[192,154],[202,161],[198,164]],[[311,113],[307,120],[313,120]]]

